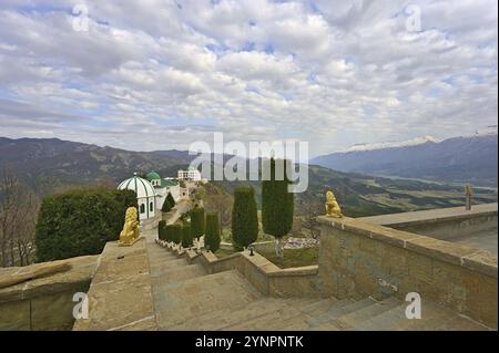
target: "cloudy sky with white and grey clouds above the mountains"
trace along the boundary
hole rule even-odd
[[[306,141],[317,155],[470,134],[497,124],[497,11],[496,0],[1,0],[0,136],[151,150],[223,132]]]

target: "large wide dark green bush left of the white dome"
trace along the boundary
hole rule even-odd
[[[126,208],[138,207],[131,190],[69,190],[43,199],[37,222],[37,261],[101,253],[118,240]]]

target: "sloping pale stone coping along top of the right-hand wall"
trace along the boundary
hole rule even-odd
[[[335,229],[346,230],[440,261],[461,266],[472,271],[498,278],[497,256],[487,251],[459,243],[396,230],[393,228],[366,224],[354,218],[317,217],[317,221]]]

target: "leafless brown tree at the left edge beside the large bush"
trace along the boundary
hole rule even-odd
[[[38,197],[7,167],[0,176],[1,266],[32,262]]]

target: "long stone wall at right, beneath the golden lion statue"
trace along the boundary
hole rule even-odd
[[[317,220],[322,295],[405,300],[417,292],[422,305],[437,302],[497,328],[496,255],[347,217]]]

